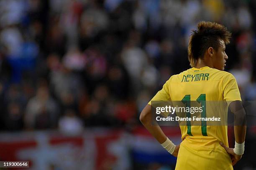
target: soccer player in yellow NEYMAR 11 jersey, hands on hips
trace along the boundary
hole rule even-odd
[[[191,69],[173,75],[151,101],[223,101],[239,119],[245,119],[234,76],[223,71],[228,56],[225,45],[231,33],[223,25],[202,21],[192,30],[188,59]],[[200,74],[200,76],[196,76]],[[201,76],[202,75],[202,76]],[[152,124],[151,101],[140,121],[174,157],[176,170],[233,170],[244,151],[245,124],[234,124],[235,148],[228,147],[227,126],[180,126],[182,142],[174,145],[159,125]],[[207,113],[206,113],[207,114]]]

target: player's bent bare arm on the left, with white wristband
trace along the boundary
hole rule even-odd
[[[159,125],[152,124],[151,106],[149,104],[144,107],[140,115],[140,121],[143,126],[150,132],[154,138],[173,156],[177,157],[179,152],[179,145],[174,145],[170,141]]]

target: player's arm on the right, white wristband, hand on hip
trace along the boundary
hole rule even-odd
[[[235,148],[226,147],[223,143],[220,143],[220,145],[230,154],[232,164],[235,165],[241,159],[244,151],[246,112],[243,108],[242,101],[233,101],[229,107],[230,111],[234,114]]]

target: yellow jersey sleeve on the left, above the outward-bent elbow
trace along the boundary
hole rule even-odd
[[[170,78],[171,79],[171,78]],[[156,93],[156,95],[148,102],[151,105],[151,101],[168,101],[171,100],[169,91],[169,80],[167,80],[163,88]]]

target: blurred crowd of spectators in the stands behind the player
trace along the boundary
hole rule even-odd
[[[226,71],[256,100],[253,0],[0,0],[0,129],[132,129],[189,69],[200,20],[232,32]]]

